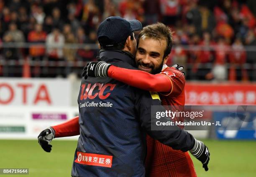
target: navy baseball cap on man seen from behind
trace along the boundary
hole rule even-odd
[[[108,37],[111,41],[108,44],[101,44],[105,46],[114,46],[115,43],[122,42],[127,39],[133,31],[142,29],[139,20],[125,20],[122,17],[108,17],[100,23],[97,31],[98,40],[100,37]]]

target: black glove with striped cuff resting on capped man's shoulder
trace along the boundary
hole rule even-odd
[[[83,69],[82,77],[87,79],[87,77],[107,77],[108,76],[108,68],[111,64],[108,64],[103,61],[99,61],[100,58],[97,57],[97,62],[88,62]]]

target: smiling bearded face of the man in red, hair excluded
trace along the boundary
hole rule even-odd
[[[161,72],[168,56],[164,58],[167,42],[163,39],[142,36],[136,52],[136,64],[138,69],[151,74]]]

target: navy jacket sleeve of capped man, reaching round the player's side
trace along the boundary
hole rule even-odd
[[[164,145],[172,147],[174,150],[182,150],[186,152],[191,150],[195,144],[194,137],[187,131],[180,129],[178,126],[174,126],[173,130],[164,130],[163,126],[159,126],[158,130],[151,130],[151,124],[155,124],[156,119],[151,121],[151,105],[161,105],[161,101],[157,92],[141,91],[136,102],[136,107],[139,112],[139,119],[141,127],[148,133],[149,136]],[[160,107],[160,110],[165,111],[164,107]],[[156,115],[152,112],[152,115]],[[158,119],[161,122],[167,122],[170,120],[168,117]]]

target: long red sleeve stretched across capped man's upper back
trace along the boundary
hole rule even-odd
[[[141,70],[130,70],[112,65],[108,69],[108,77],[142,90],[154,92],[170,92],[172,90],[169,78],[161,74],[152,75]]]

